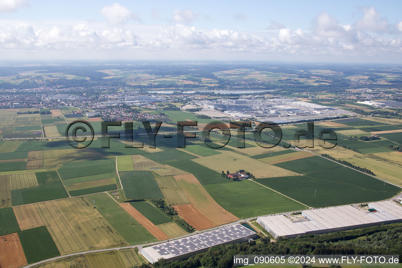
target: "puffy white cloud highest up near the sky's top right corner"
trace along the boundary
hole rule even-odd
[[[390,28],[388,20],[381,18],[373,6],[363,7],[363,18],[356,22],[356,28],[363,31],[386,32]]]

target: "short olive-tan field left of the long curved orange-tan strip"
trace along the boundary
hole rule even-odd
[[[189,204],[190,200],[173,176],[156,176],[156,182],[169,205]]]

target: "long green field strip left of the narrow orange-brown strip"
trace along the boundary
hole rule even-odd
[[[92,200],[95,200],[95,207],[99,213],[130,245],[158,241],[106,193],[88,196],[88,201]]]

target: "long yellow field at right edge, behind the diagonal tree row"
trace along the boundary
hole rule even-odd
[[[402,166],[398,164],[385,162],[384,160],[357,153],[340,146],[336,146],[332,149],[323,149],[319,145],[316,145],[314,149],[309,148],[309,150],[317,154],[326,153],[336,159],[352,163],[355,166],[367,168],[378,178],[402,186],[402,177],[400,176],[400,174],[402,174]]]

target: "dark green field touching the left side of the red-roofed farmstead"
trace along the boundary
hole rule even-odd
[[[201,184],[229,182],[230,180],[222,178],[222,176],[203,165],[195,163],[191,160],[170,163],[170,166],[189,172],[197,178]],[[222,171],[222,170],[221,170]]]

